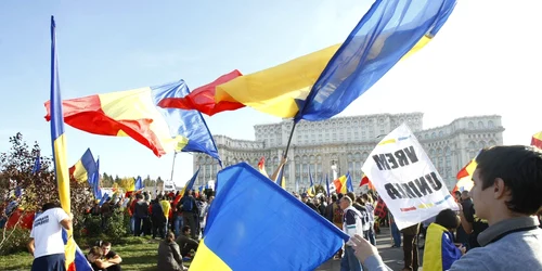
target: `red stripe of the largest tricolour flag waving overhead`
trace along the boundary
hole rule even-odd
[[[164,108],[196,109],[203,114],[212,116],[223,111],[234,111],[245,105],[238,102],[220,101],[215,103],[216,88],[242,76],[237,69],[222,75],[215,81],[199,87],[183,98],[166,98],[158,103]]]

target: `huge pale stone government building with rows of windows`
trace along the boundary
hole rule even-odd
[[[285,178],[288,191],[309,186],[309,169],[319,183],[325,176],[332,179],[332,165],[338,175],[347,171],[353,185],[361,180],[361,166],[379,142],[379,138],[406,122],[444,179],[449,189],[455,185],[455,175],[476,153],[491,145],[503,143],[504,128],[501,116],[474,116],[453,120],[451,124],[423,129],[423,113],[378,114],[337,117],[323,121],[300,121],[294,132]],[[292,120],[255,126],[255,141],[235,140],[225,136],[214,136],[224,167],[246,162],[257,167],[266,157],[269,175],[276,169],[286,149],[292,130]],[[197,186],[214,180],[219,166],[204,154],[194,155],[194,170],[199,166]]]

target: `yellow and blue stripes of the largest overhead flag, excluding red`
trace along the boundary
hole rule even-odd
[[[377,0],[343,44],[217,86],[215,101],[240,102],[282,118],[327,119],[427,44],[455,2]]]

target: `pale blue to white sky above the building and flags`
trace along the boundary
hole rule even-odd
[[[542,61],[535,0],[459,1],[437,38],[400,63],[343,115],[425,113],[426,128],[462,116],[500,114],[505,144],[542,130]],[[372,1],[22,1],[0,2],[0,152],[21,131],[51,154],[50,16],[57,25],[64,99],[184,79],[196,88],[221,74],[257,72],[341,42]],[[531,102],[532,101],[532,102]],[[214,134],[254,139],[255,124],[280,121],[250,108],[206,118]],[[528,122],[530,121],[530,124]],[[73,165],[90,147],[102,172],[169,178],[172,155],[157,158],[128,138],[66,128]],[[176,179],[192,175],[181,154]]]

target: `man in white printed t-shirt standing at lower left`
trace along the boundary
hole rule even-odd
[[[34,255],[33,271],[65,271],[62,229],[72,230],[72,215],[59,204],[47,203],[34,219],[28,249]]]

